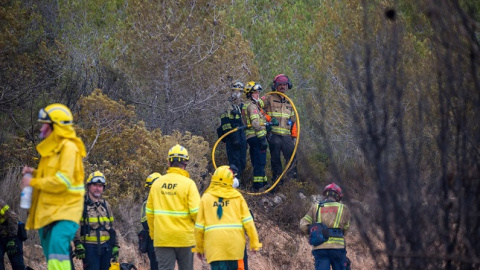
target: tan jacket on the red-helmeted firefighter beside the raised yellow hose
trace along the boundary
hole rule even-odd
[[[263,96],[261,100],[265,104],[265,112],[278,120],[278,126],[272,126],[272,132],[281,136],[291,136],[292,125],[296,120],[292,104],[277,94]],[[288,124],[289,120],[291,125]]]

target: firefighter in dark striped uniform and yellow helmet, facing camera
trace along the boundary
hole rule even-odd
[[[110,261],[118,261],[120,247],[113,229],[112,208],[102,198],[106,185],[102,172],[88,176],[80,228],[74,238],[75,255],[83,261],[83,269],[106,270]]]

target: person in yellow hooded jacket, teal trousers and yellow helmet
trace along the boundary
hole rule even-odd
[[[48,269],[71,269],[70,242],[82,216],[85,145],[73,128],[67,106],[41,109],[38,169],[25,166],[21,188],[33,187],[27,230],[38,229]],[[32,174],[33,177],[30,175]]]

